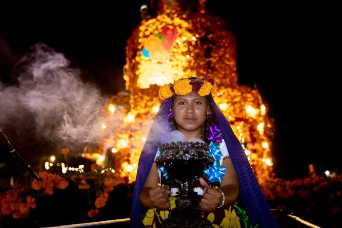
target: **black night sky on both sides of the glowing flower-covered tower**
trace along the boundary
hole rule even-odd
[[[225,18],[236,36],[239,83],[257,86],[275,119],[276,175],[304,176],[310,163],[319,171],[340,170],[340,73],[334,71],[334,56],[340,55],[341,39],[333,7],[240,6],[230,1],[222,7],[219,2],[207,1],[207,13]],[[114,7],[9,9],[0,23],[0,80],[11,85],[13,65],[42,42],[63,53],[104,96],[118,93],[125,88],[125,46],[140,21],[140,6],[141,1],[125,1]]]

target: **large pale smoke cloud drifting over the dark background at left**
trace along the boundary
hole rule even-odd
[[[44,44],[17,63],[17,86],[0,82],[0,126],[34,131],[64,146],[96,143],[101,132],[100,110],[106,103],[99,90],[82,82],[63,54]],[[118,120],[113,124],[120,125]],[[116,126],[118,127],[118,126]]]

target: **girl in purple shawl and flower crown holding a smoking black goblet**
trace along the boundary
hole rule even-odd
[[[203,198],[199,208],[209,213],[207,219],[213,226],[278,227],[239,140],[212,99],[214,87],[213,80],[197,78],[180,79],[173,85],[161,87],[160,97],[166,100],[151,127],[139,160],[132,227],[158,227],[168,215],[165,210],[174,207],[171,206],[174,198],[170,197],[170,189],[159,184],[160,174],[154,163],[160,142],[154,140],[151,132],[163,122],[168,122],[171,130],[183,133],[185,141],[201,139],[208,144],[214,143],[217,148],[215,165],[204,173],[218,188],[210,187],[200,178]],[[150,150],[156,153],[150,153]],[[144,213],[146,209],[149,210]]]

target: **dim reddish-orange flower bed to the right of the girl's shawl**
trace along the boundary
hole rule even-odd
[[[265,198],[279,209],[292,212],[298,209],[297,213],[310,214],[317,208],[324,208],[331,214],[341,213],[342,175],[330,178],[313,175],[294,180],[275,178],[263,182],[261,187]],[[301,208],[298,208],[298,203]]]

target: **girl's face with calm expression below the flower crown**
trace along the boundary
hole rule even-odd
[[[191,92],[184,96],[175,96],[173,101],[173,116],[177,124],[177,130],[185,136],[191,133],[202,134],[204,124],[209,112],[206,97]],[[197,134],[198,133],[198,134]]]

